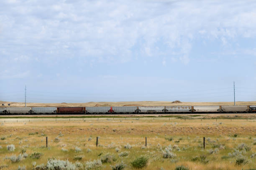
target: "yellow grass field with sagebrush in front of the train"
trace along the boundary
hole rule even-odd
[[[2,170],[18,166],[20,170],[23,166],[26,170],[129,170],[140,165],[144,170],[174,170],[180,165],[177,170],[256,168],[256,120],[252,118],[217,122],[200,117],[20,118],[18,122],[2,118],[0,123]],[[15,150],[7,148],[12,144]]]

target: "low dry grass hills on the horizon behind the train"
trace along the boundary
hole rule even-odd
[[[0,107],[24,107],[23,102],[0,101],[5,106]],[[10,103],[10,106],[8,106]],[[234,105],[234,102],[181,102],[172,103],[166,101],[139,101],[139,102],[86,102],[86,103],[27,103],[27,107],[89,107],[89,106],[215,106]],[[236,102],[236,105],[256,105],[256,101]]]

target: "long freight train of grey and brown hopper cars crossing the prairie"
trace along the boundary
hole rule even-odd
[[[250,112],[256,112],[256,106],[0,107],[1,115]]]

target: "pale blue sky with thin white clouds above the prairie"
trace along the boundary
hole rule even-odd
[[[256,101],[255,0],[1,0],[0,100]]]

